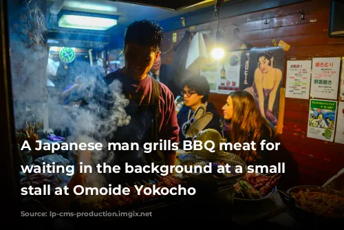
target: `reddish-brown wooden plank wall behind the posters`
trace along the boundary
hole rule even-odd
[[[297,11],[305,13],[304,20]],[[235,24],[240,30],[240,39],[255,47],[273,46],[272,39],[277,43],[283,40],[291,45],[286,52],[286,61],[312,59],[315,56],[344,56],[344,39],[330,39],[327,36],[329,17],[330,0],[312,0],[222,19],[220,30],[223,41],[230,41]],[[265,19],[267,23],[264,23]],[[216,29],[217,21],[213,21],[193,28],[166,32],[162,51],[171,48],[173,32],[177,32],[179,42],[186,30],[211,30],[210,38],[214,39]],[[163,63],[171,64],[172,61],[173,50],[162,56]],[[286,70],[283,81],[285,87]],[[221,108],[226,95],[211,94],[209,101],[222,114]],[[308,111],[308,100],[286,98],[281,140],[299,165],[301,184],[321,185],[343,168],[344,145],[307,138]]]

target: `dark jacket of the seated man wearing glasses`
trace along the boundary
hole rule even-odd
[[[180,127],[179,132],[179,140],[180,140],[180,148],[183,148],[183,141],[184,140],[192,140],[192,138],[186,138],[182,132],[182,127],[184,123],[188,121],[189,111],[191,110],[190,107],[184,106],[182,109],[180,109],[180,112],[177,114],[178,118],[178,125]],[[220,127],[220,116],[217,114],[217,111],[215,109],[215,105],[213,103],[208,103],[206,106],[206,112],[211,112],[213,114],[213,119],[211,119],[211,122],[206,125],[204,129],[216,129],[221,134],[221,127]],[[190,118],[193,116],[193,112],[191,111]]]

